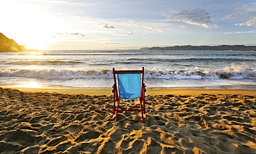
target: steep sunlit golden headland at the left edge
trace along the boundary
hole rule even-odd
[[[16,52],[16,51],[26,51],[24,46],[17,44],[13,39],[8,39],[6,35],[0,32],[0,52]]]

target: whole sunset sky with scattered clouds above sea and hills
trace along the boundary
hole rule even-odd
[[[256,45],[255,0],[8,0],[0,6],[0,32],[38,50]]]

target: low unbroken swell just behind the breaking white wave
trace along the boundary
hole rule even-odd
[[[39,65],[39,66],[46,66],[46,65],[58,65],[58,66],[72,66],[72,65],[90,65],[90,66],[116,66],[116,65],[128,65],[128,64],[145,64],[145,65],[150,65],[150,64],[158,64],[159,61],[161,63],[165,63],[166,65],[168,64],[179,64],[181,66],[191,66],[191,64],[194,63],[218,63],[221,61],[239,61],[239,63],[251,63],[253,64],[253,60],[250,59],[214,59],[214,58],[208,58],[208,59],[196,59],[196,58],[188,58],[188,59],[157,59],[157,58],[152,58],[152,59],[144,59],[144,58],[129,58],[126,59],[125,61],[113,61],[113,60],[106,60],[104,61],[90,61],[91,59],[83,59],[84,61],[67,61],[67,60],[33,60],[33,61],[1,61],[2,64],[6,65],[14,65],[14,66],[30,66],[30,65]],[[188,65],[186,65],[188,64]]]

